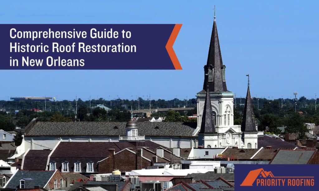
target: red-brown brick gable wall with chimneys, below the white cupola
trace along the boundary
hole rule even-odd
[[[152,162],[141,157],[141,150],[138,150],[137,154],[128,150],[123,150],[115,155],[113,153],[110,152],[108,159],[98,164],[99,173],[111,173],[114,169],[119,169],[121,172],[147,169],[148,166],[152,165]]]

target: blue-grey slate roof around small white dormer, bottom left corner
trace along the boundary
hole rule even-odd
[[[26,180],[25,188],[34,188],[34,186],[40,186],[43,188],[55,172],[56,171],[19,170],[11,177],[6,188],[19,188],[20,180],[27,178],[31,178],[32,180]]]

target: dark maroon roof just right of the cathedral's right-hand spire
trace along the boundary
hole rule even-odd
[[[294,149],[297,145],[266,135],[258,137],[258,148],[266,148],[267,146],[272,146],[273,149]]]

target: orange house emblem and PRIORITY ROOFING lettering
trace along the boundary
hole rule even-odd
[[[251,170],[240,186],[256,187],[313,187],[315,186],[314,176],[274,176],[271,171],[263,168]]]

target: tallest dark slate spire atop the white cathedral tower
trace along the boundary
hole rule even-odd
[[[214,16],[213,29],[211,32],[211,42],[208,50],[207,64],[204,66],[205,77],[203,89],[207,91],[207,88],[209,88],[211,92],[225,92],[227,91],[225,79],[226,66],[223,65],[223,60],[221,58],[215,18],[216,17]]]

